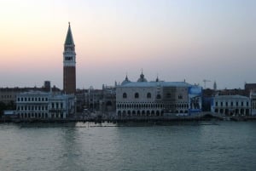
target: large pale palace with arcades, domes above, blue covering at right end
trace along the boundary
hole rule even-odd
[[[143,73],[137,82],[125,77],[116,87],[118,117],[163,117],[201,112],[201,87],[185,82],[148,82]]]

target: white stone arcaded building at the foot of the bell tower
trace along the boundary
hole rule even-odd
[[[20,118],[66,118],[74,113],[74,96],[29,91],[17,94],[16,113]]]

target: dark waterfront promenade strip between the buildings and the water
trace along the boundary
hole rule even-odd
[[[201,112],[192,116],[167,116],[167,117],[113,117],[100,115],[96,117],[87,117],[84,115],[75,115],[67,118],[1,118],[1,123],[67,123],[67,122],[93,122],[93,123],[126,123],[126,122],[189,122],[189,121],[205,121],[205,120],[220,120],[220,121],[248,121],[256,120],[256,116],[224,116],[218,113]]]

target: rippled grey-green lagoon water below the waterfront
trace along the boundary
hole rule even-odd
[[[0,170],[256,170],[256,122],[0,124]]]

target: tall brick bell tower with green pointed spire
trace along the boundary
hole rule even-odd
[[[76,91],[76,52],[69,22],[63,52],[63,91],[65,94]]]

